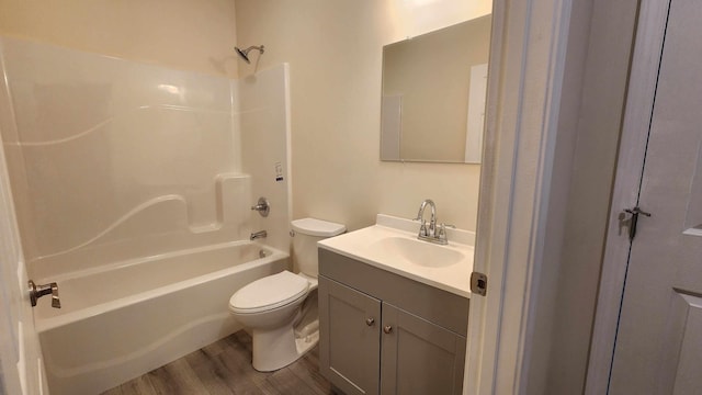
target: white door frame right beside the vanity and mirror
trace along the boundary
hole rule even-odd
[[[566,53],[587,45],[569,34],[571,20],[589,18],[571,10],[573,0],[494,1],[474,262],[488,291],[471,298],[464,394],[526,393],[544,373],[531,340],[540,285],[557,276],[548,268],[561,246],[548,232],[565,222],[569,185],[559,181],[573,168],[556,155],[576,133],[558,128]]]

